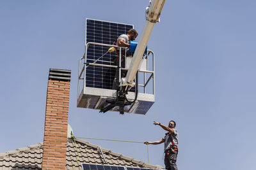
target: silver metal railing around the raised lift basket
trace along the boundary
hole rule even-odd
[[[81,94],[81,81],[83,82],[83,89],[85,89],[86,87],[86,67],[89,67],[89,66],[101,66],[101,67],[113,67],[113,68],[117,68],[118,66],[111,66],[111,65],[108,65],[108,64],[97,64],[97,63],[89,63],[89,62],[86,62],[87,60],[87,52],[88,52],[88,49],[90,48],[90,45],[98,45],[98,46],[108,46],[109,48],[110,47],[114,47],[114,48],[119,48],[119,61],[121,61],[121,57],[122,57],[122,54],[121,54],[121,51],[122,49],[124,50],[128,50],[127,47],[122,47],[122,46],[116,46],[116,45],[107,45],[107,44],[102,44],[102,43],[93,43],[93,42],[89,42],[86,44],[85,46],[85,52],[84,52],[84,55],[83,57],[81,57],[79,59],[79,71],[78,71],[78,82],[77,82],[77,99],[79,97],[79,95]],[[148,57],[152,56],[152,71],[148,71]],[[154,71],[155,71],[155,66],[154,66],[154,52],[152,52],[151,50],[147,50],[147,55],[145,56],[145,59],[147,59],[147,70],[138,70],[139,73],[143,73],[143,84],[138,84],[139,87],[143,87],[143,93],[145,94],[146,93],[146,87],[148,85],[148,83],[150,82],[150,80],[153,81],[152,83],[152,94],[155,94],[155,74],[154,74]],[[82,63],[82,61],[84,60],[84,62]],[[125,60],[126,60],[126,53],[125,53]],[[83,64],[83,66],[82,66]],[[121,66],[121,64],[119,64],[119,66]],[[124,67],[120,67],[119,69],[119,75],[121,70],[128,70],[127,68],[124,68]],[[147,78],[147,74],[148,75],[148,78]],[[138,77],[139,80],[140,80],[140,76]],[[121,77],[119,77],[119,82],[121,80]]]

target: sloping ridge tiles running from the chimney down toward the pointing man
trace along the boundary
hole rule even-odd
[[[72,138],[68,138],[68,141],[74,142]],[[154,168],[154,169],[161,169],[161,168],[163,168],[162,166],[159,166],[159,165],[147,164],[146,162],[143,162],[141,160],[136,160],[136,159],[134,159],[132,157],[127,157],[127,156],[125,156],[125,155],[123,155],[121,153],[113,152],[112,150],[108,150],[106,148],[102,148],[101,146],[94,145],[94,144],[92,144],[92,143],[90,143],[88,141],[84,141],[84,140],[81,140],[81,139],[76,139],[76,142],[83,143],[84,145],[91,146],[91,147],[93,147],[95,149],[100,147],[102,149],[102,152],[111,154],[111,155],[113,155],[115,157],[120,157],[121,159],[124,159],[124,160],[128,160],[128,161],[130,161],[130,162],[132,162],[134,164],[138,164],[138,166],[147,166],[147,167]]]

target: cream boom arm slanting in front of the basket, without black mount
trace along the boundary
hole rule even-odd
[[[161,15],[161,11],[163,10],[164,3],[165,0],[152,0],[150,1],[149,6],[146,8],[146,22],[144,24],[143,31],[138,41],[138,45],[132,57],[131,65],[127,71],[124,80],[122,80],[122,86],[133,86],[132,81],[134,80],[138,71],[138,67],[140,66],[140,62],[143,57],[143,53],[147,46],[148,39],[150,38],[153,27],[156,22],[160,21],[159,17]]]

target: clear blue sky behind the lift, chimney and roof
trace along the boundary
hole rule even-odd
[[[256,169],[256,1],[166,0],[148,42],[156,54],[156,103],[147,115],[76,107],[85,18],[134,24],[148,0],[0,2],[0,153],[43,142],[49,68],[71,69],[68,123],[75,136],[155,141],[153,121],[177,122],[179,169]],[[147,147],[88,140],[147,162]],[[150,164],[164,166],[163,144]]]

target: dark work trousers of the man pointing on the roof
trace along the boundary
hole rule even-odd
[[[178,170],[176,160],[177,160],[177,151],[168,150],[164,154],[164,164],[165,169],[167,170]]]

